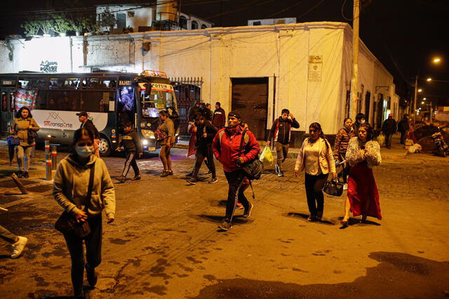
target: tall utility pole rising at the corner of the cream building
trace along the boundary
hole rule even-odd
[[[356,119],[357,114],[357,87],[358,87],[358,21],[360,15],[360,1],[354,0],[354,13],[352,20],[352,77],[351,102],[349,103],[349,117]]]

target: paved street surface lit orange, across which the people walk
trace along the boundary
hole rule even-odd
[[[61,154],[63,155],[63,154]],[[227,184],[188,186],[193,160],[175,151],[175,175],[159,178],[160,162],[139,161],[142,180],[116,185],[117,214],[105,225],[102,264],[93,298],[445,298],[449,294],[449,158],[413,155],[375,169],[382,221],[355,219],[340,230],[344,197],[326,197],[325,221],[307,222],[304,177],[272,169],[254,185],[249,220],[217,232]],[[72,292],[69,255],[53,229],[61,213],[42,180],[37,152],[18,195],[0,172],[0,225],[29,238],[18,260],[0,248],[2,298],[54,298]],[[116,177],[123,159],[105,159]],[[6,163],[6,153],[0,152]],[[207,178],[204,175],[204,178]],[[250,190],[246,192],[250,197]],[[6,243],[5,243],[6,244]]]

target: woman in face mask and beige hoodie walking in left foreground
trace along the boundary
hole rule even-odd
[[[107,223],[115,218],[115,192],[105,162],[93,154],[93,133],[80,128],[74,134],[74,152],[58,164],[53,180],[53,197],[77,222],[87,221],[91,233],[85,238],[73,232],[64,234],[72,258],[72,284],[76,298],[84,298],[83,274],[86,267],[88,284],[95,286],[95,267],[101,263],[102,211]],[[93,180],[90,184],[91,171]],[[89,185],[91,197],[88,198]],[[86,243],[84,265],[83,241]]]

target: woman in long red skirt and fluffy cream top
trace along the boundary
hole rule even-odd
[[[352,211],[354,216],[362,215],[362,222],[366,221],[367,216],[382,219],[379,192],[372,169],[382,162],[380,145],[373,140],[374,131],[369,124],[362,124],[357,135],[358,137],[349,140],[346,152],[346,161],[349,162],[351,170],[342,227],[348,226],[349,211]]]

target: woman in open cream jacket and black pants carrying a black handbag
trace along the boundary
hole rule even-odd
[[[332,173],[337,178],[332,148],[324,137],[321,125],[313,123],[309,126],[310,137],[302,142],[295,164],[295,177],[299,171],[305,171],[305,189],[309,206],[309,221],[321,221],[324,211],[324,182]]]

